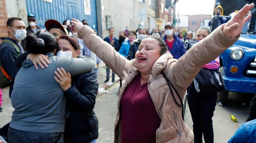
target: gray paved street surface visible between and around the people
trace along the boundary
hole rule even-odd
[[[104,63],[100,64],[99,69],[99,87],[104,85],[106,79],[106,70]],[[116,79],[118,79],[116,77]],[[96,99],[95,113],[99,119],[99,138],[98,143],[113,143],[113,128],[115,122],[115,116],[117,113],[117,91],[119,89],[119,82],[116,82],[111,88],[108,89],[108,93],[102,93]],[[8,90],[4,89],[2,105],[4,111],[0,113],[0,127],[5,125],[11,120],[11,113],[13,107],[11,106],[10,99],[8,97]],[[213,125],[214,125],[214,143],[225,143],[238,129],[239,125],[245,122],[249,113],[249,101],[252,98],[251,95],[247,94],[235,94],[231,93],[229,100],[225,106],[216,105],[214,111]],[[241,102],[245,102],[246,105],[242,105]],[[238,122],[230,120],[230,116],[236,116]],[[185,114],[185,122],[188,127],[192,129],[192,119],[190,116],[189,109]]]

